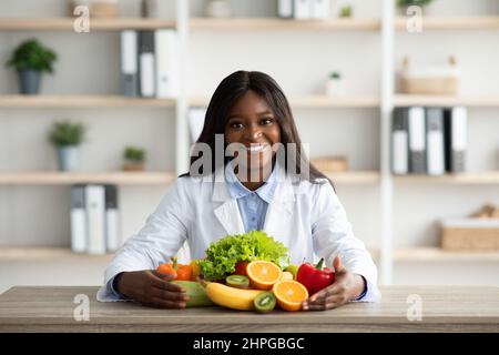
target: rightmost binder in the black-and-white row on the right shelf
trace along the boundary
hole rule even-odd
[[[458,173],[466,170],[467,124],[466,108],[456,106],[444,112],[446,171]]]

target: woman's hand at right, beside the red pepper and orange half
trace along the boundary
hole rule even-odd
[[[352,300],[358,298],[366,287],[364,277],[350,273],[342,265],[342,260],[336,256],[333,266],[335,268],[335,282],[312,295],[302,304],[304,311],[324,311],[337,308]]]

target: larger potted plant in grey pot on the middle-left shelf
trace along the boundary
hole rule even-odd
[[[80,165],[80,144],[85,128],[82,123],[54,122],[49,132],[49,141],[55,146],[59,169],[74,171]]]

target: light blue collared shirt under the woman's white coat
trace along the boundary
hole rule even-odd
[[[277,187],[277,169],[276,164],[267,181],[255,191],[251,191],[237,179],[231,163],[225,165],[228,192],[231,197],[237,201],[246,233],[263,230],[268,204],[274,200],[275,189]]]

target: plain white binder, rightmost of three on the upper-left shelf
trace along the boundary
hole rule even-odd
[[[174,30],[154,32],[156,62],[156,97],[176,98],[179,94],[177,36]]]

